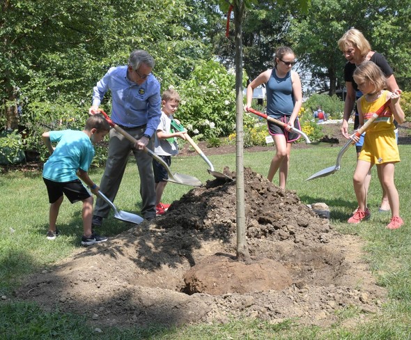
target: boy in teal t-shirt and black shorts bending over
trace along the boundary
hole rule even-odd
[[[42,140],[49,149],[50,157],[45,162],[42,177],[49,195],[49,231],[47,239],[54,240],[59,235],[56,221],[63,203],[63,194],[71,203],[83,202],[83,237],[82,245],[94,245],[107,241],[104,236],[93,233],[91,218],[93,217],[93,196],[88,192],[79,178],[97,195],[100,187],[88,177],[88,168],[94,157],[93,144],[104,139],[109,132],[109,123],[102,114],[95,114],[86,121],[83,131],[61,130],[42,134]],[[56,142],[54,148],[52,143]]]

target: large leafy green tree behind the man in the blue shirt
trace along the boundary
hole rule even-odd
[[[0,124],[15,129],[20,121],[28,127],[28,148],[39,145],[42,130],[82,128],[93,86],[109,67],[126,63],[135,48],[153,54],[163,88],[178,84],[199,59],[211,58],[201,31],[189,26],[192,2],[3,2]]]

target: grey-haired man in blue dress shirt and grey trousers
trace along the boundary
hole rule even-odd
[[[109,154],[100,182],[100,190],[114,201],[120,187],[130,151],[134,154],[139,169],[141,215],[145,219],[155,217],[155,183],[152,158],[144,152],[146,146],[153,150],[151,138],[160,123],[160,83],[151,73],[154,59],[142,49],[130,54],[128,65],[110,68],[93,88],[93,105],[90,114],[98,112],[104,94],[111,91],[111,120],[138,141],[133,144],[122,134],[111,129]],[[97,199],[93,226],[101,226],[102,219],[109,215],[110,206]]]

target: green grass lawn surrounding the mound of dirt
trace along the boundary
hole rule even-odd
[[[306,181],[311,174],[336,162],[340,147],[295,148],[292,151],[288,190],[295,190],[304,203],[325,202],[331,210],[331,223],[342,233],[359,235],[364,239],[373,275],[389,292],[389,302],[379,319],[343,327],[343,320],[359,311],[347,309],[339,317],[341,322],[329,328],[300,327],[293,320],[272,325],[261,320],[231,320],[224,325],[187,325],[179,328],[151,327],[117,329],[104,328],[95,332],[86,325],[82,316],[56,311],[41,311],[35,304],[13,299],[13,290],[26,275],[47,269],[80,247],[82,235],[81,203],[63,202],[59,229],[63,235],[54,242],[46,240],[48,224],[47,192],[40,173],[11,172],[0,177],[0,339],[411,339],[411,209],[410,159],[411,146],[399,146],[402,162],[396,165],[396,186],[400,194],[401,216],[405,225],[397,231],[385,229],[389,214],[378,213],[381,189],[373,169],[369,192],[372,217],[361,226],[346,223],[356,208],[352,189],[355,168],[355,150],[343,156],[341,170],[332,176]],[[204,150],[207,153],[207,150]],[[272,151],[249,153],[245,150],[245,167],[267,175]],[[228,166],[235,171],[235,155],[214,155],[210,161],[216,171]],[[175,157],[171,170],[187,173],[203,183],[212,177],[201,157]],[[97,183],[102,169],[91,171]],[[277,181],[277,176],[274,178]],[[169,183],[163,201],[171,203],[191,190],[185,185]],[[130,161],[127,166],[116,206],[139,214],[139,177],[137,167]],[[127,228],[114,217],[104,223],[101,233],[115,237]]]

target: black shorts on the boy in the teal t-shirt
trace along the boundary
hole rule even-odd
[[[81,180],[71,180],[70,182],[54,182],[54,180],[48,180],[42,178],[47,187],[47,193],[49,194],[49,203],[56,202],[63,194],[68,198],[71,203],[78,201],[84,201],[91,196],[90,192],[84,187]]]

